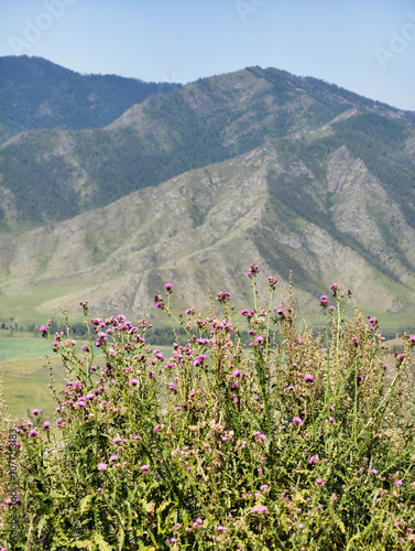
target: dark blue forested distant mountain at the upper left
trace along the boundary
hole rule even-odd
[[[0,57],[0,143],[24,130],[101,128],[181,85],[80,75],[42,57]]]

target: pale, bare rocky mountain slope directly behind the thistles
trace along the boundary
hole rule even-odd
[[[255,262],[285,282],[293,270],[302,313],[316,314],[317,296],[337,281],[370,313],[387,311],[389,329],[402,328],[415,318],[415,227],[346,145],[324,162],[313,156],[339,123],[302,143],[271,140],[70,220],[3,234],[4,312],[13,305],[17,314],[19,298],[21,316],[28,304],[36,318],[62,307],[78,313],[87,299],[100,315],[153,317],[153,294],[167,281],[177,307],[207,309],[208,284],[243,307],[243,274]]]

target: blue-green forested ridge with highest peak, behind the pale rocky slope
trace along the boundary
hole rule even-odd
[[[70,218],[270,139],[301,139],[302,132],[317,131],[353,109],[372,118],[365,147],[373,158],[382,156],[386,145],[386,154],[401,154],[412,114],[316,79],[259,67],[151,96],[105,129],[19,134],[0,150],[0,193],[8,205],[3,230]],[[357,128],[343,125],[359,149],[365,121]],[[380,130],[386,144],[378,140]],[[391,143],[393,136],[400,143]],[[395,164],[397,176],[412,170],[406,158]]]

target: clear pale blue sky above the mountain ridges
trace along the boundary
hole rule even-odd
[[[251,65],[415,110],[414,0],[1,0],[0,55],[187,83]]]

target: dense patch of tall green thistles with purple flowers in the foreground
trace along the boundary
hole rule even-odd
[[[259,268],[248,276],[253,309],[234,312],[226,292],[220,314],[190,307],[170,358],[145,344],[145,320],[90,320],[81,354],[68,325],[41,327],[69,382],[54,389],[58,440],[42,410],[18,426],[20,540],[6,504],[8,550],[414,548],[415,337],[387,365],[378,321],[358,307],[345,317],[350,291],[320,298],[315,337],[297,328],[291,288],[275,303],[270,277],[263,303]],[[155,296],[168,316],[172,293]]]

